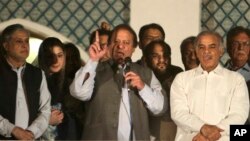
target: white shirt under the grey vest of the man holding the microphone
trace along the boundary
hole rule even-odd
[[[75,78],[70,85],[70,93],[72,96],[82,101],[87,101],[91,98],[94,88],[94,78],[96,75],[95,69],[98,62],[89,60],[87,64],[80,68],[75,75]],[[89,78],[83,83],[86,73],[89,73]],[[153,72],[152,72],[153,74]],[[154,74],[150,86],[146,85],[139,91],[139,95],[147,103],[147,108],[153,114],[159,114],[164,107],[164,97],[161,93],[162,87]],[[130,104],[128,101],[128,91],[126,88],[122,89],[122,99],[119,111],[118,124],[118,140],[129,140],[130,135]],[[135,138],[134,138],[135,139]]]

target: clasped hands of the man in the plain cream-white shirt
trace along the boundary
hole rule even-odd
[[[205,136],[206,138],[209,139],[209,141],[216,141],[221,137],[220,132],[222,132],[224,130],[220,129],[219,127],[215,126],[215,125],[208,125],[208,124],[204,124],[201,127],[201,134],[203,136]]]

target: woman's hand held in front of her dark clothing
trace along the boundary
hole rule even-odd
[[[52,109],[49,125],[58,125],[62,123],[63,118],[64,118],[63,112],[61,112],[60,110]]]

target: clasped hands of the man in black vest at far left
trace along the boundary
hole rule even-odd
[[[21,127],[14,127],[12,135],[18,140],[34,140],[34,134],[31,131],[24,130]]]

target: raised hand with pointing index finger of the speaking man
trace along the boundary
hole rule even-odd
[[[100,45],[99,40],[99,33],[96,31],[95,33],[95,42],[90,45],[89,47],[89,56],[93,61],[99,61],[107,52],[108,48],[107,45],[103,46]]]

